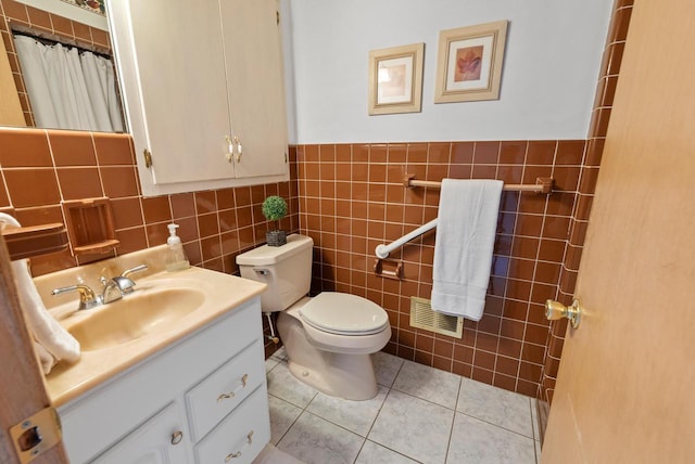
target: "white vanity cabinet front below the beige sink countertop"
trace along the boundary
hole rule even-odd
[[[270,440],[260,305],[60,407],[71,462],[251,463]]]

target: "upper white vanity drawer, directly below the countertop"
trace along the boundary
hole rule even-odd
[[[256,340],[186,394],[195,441],[265,383],[263,358],[263,346]]]

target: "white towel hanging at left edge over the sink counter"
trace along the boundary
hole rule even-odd
[[[0,212],[0,222],[11,227],[20,227],[16,219],[4,212]],[[28,259],[12,261],[12,271],[20,302],[24,308],[24,317],[29,332],[34,336],[34,348],[41,362],[43,373],[51,372],[53,365],[60,360],[77,361],[80,355],[79,341],[46,310],[29,273]]]

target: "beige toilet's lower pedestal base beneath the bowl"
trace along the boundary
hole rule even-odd
[[[316,348],[292,310],[278,314],[278,332],[292,375],[331,397],[369,400],[379,388],[370,353],[340,353]],[[384,343],[386,345],[386,343]],[[383,347],[378,347],[375,352]]]

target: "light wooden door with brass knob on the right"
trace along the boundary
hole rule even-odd
[[[695,460],[694,28],[635,2],[543,463]]]

